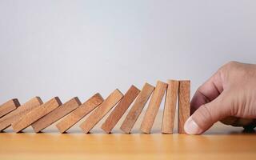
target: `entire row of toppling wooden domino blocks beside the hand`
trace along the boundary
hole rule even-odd
[[[165,93],[162,133],[173,134],[178,100],[178,133],[185,134],[183,126],[190,116],[190,81],[176,80],[168,80],[167,83],[158,81],[155,87],[146,83],[142,90],[130,86],[124,95],[116,89],[105,100],[101,94],[94,94],[84,103],[81,103],[78,98],[72,98],[62,104],[58,97],[43,103],[41,98],[35,97],[20,106],[18,99],[11,99],[0,106],[0,131],[12,126],[13,130],[18,133],[28,126],[32,126],[34,132],[38,133],[61,119],[56,126],[60,133],[64,133],[87,114],[90,114],[80,125],[84,133],[89,133],[114,108],[102,124],[102,130],[109,134],[134,102],[120,127],[123,132],[130,134],[134,123],[152,94],[140,127],[143,133],[150,134]]]

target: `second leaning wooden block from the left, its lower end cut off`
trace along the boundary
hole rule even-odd
[[[30,99],[30,101],[26,102],[22,106],[19,106],[16,110],[6,114],[4,117],[0,118],[0,130],[5,130],[12,122],[17,121],[23,115],[29,113],[30,110],[42,105],[42,103],[41,98],[35,97]]]

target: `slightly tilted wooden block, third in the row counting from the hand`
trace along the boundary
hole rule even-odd
[[[157,86],[155,87],[152,98],[150,99],[150,104],[142,120],[141,131],[145,134],[150,134],[150,130],[153,126],[154,119],[158,114],[158,109],[166,92],[166,88],[166,83],[160,81],[157,82]]]

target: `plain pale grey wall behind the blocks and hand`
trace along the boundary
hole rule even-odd
[[[0,0],[0,103],[82,102],[115,88],[256,62],[256,1]]]

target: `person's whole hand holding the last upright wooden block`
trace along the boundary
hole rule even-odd
[[[228,62],[195,92],[184,130],[202,134],[218,121],[252,129],[255,119],[256,65]]]

